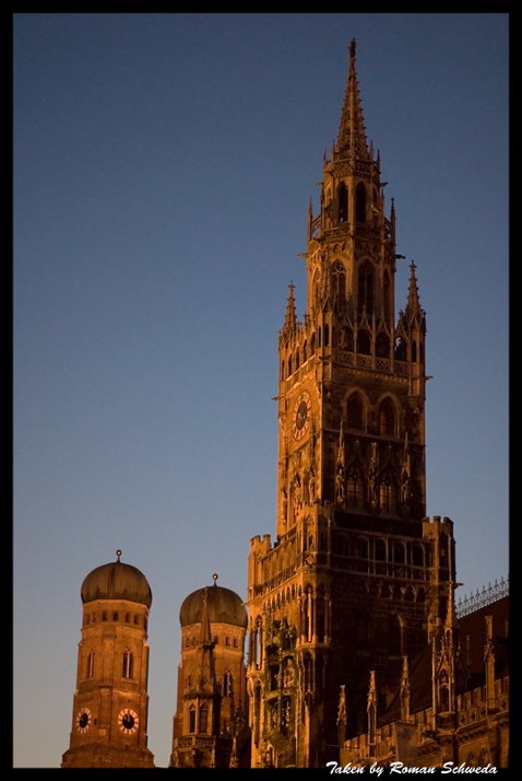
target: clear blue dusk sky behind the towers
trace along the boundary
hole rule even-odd
[[[349,39],[427,312],[429,515],[464,594],[508,575],[506,14],[14,18],[14,763],[69,745],[80,586],[149,578],[150,747],[179,606],[274,534],[277,331]]]

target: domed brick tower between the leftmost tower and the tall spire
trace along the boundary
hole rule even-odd
[[[229,588],[199,588],[183,601],[181,664],[170,767],[249,767],[245,632],[247,611]]]

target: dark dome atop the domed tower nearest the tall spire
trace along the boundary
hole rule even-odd
[[[179,610],[181,627],[191,623],[201,623],[203,619],[203,604],[206,592],[206,609],[211,623],[232,623],[235,627],[247,628],[247,610],[241,597],[230,588],[217,585],[217,575],[214,574],[214,585],[198,588],[189,594]]]

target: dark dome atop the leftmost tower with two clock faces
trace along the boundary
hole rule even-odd
[[[82,583],[82,602],[94,599],[127,599],[151,607],[152,591],[143,572],[137,567],[120,561],[121,550],[117,550],[117,561],[96,567]]]

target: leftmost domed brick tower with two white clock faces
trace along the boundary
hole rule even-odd
[[[97,567],[81,588],[70,747],[62,768],[153,768],[147,748],[147,620],[145,575],[120,561]]]

